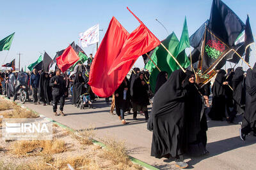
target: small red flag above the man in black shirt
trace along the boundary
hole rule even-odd
[[[78,57],[72,46],[68,46],[66,50],[56,59],[57,66],[62,72],[67,71],[67,69],[77,62],[80,58]]]

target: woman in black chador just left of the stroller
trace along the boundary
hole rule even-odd
[[[85,80],[82,73],[78,72],[73,85],[72,104],[77,104],[79,102],[79,97],[86,92],[84,85]]]

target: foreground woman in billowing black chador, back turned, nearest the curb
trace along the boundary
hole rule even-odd
[[[153,131],[151,156],[175,157],[176,166],[188,167],[183,156],[186,152],[185,97],[182,83],[186,74],[173,71],[170,78],[157,91],[148,120],[148,130]]]

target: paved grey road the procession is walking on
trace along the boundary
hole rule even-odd
[[[138,121],[132,115],[125,116],[129,124],[122,125],[116,115],[109,113],[110,107],[103,99],[93,103],[95,109],[80,110],[66,101],[64,111],[66,117],[54,117],[52,106],[24,104],[38,113],[52,118],[73,129],[84,129],[93,126],[97,129],[97,139],[113,136],[125,140],[131,156],[136,157],[159,169],[176,169],[173,160],[150,157],[152,132],[147,131],[147,124],[142,116]],[[239,121],[239,118],[236,120]],[[210,155],[205,157],[186,157],[189,169],[256,169],[256,137],[248,136],[243,142],[239,138],[238,124],[208,121],[207,150]]]

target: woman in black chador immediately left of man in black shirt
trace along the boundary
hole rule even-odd
[[[40,80],[39,80],[39,94],[40,94],[40,99],[44,103],[44,106],[46,104],[50,105],[52,101],[52,90],[50,87],[50,77],[48,73],[42,72],[40,75]]]

